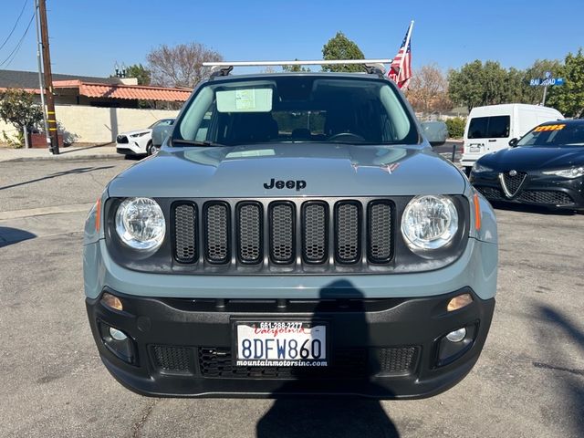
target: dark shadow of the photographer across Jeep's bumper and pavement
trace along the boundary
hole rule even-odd
[[[342,325],[333,316],[339,313],[342,313]],[[298,369],[294,381],[284,383],[273,393],[276,401],[257,422],[257,437],[399,437],[380,401],[353,396],[361,385],[369,391],[387,393],[371,380],[380,366],[366,349],[370,345],[370,333],[363,294],[349,281],[336,281],[320,291],[310,319],[313,324],[328,324],[330,345],[363,351],[364,363],[347,362],[346,357],[340,359],[339,349],[333,347],[329,351],[328,369],[316,371],[320,378],[311,375],[311,370]],[[343,385],[348,385],[345,394],[335,393],[335,382],[330,381],[328,373],[340,376],[345,373],[345,378],[340,378]],[[311,394],[311,389],[317,386],[320,393]]]

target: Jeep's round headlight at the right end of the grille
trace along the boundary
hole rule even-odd
[[[401,235],[413,251],[448,245],[458,231],[458,211],[448,196],[416,196],[401,218]]]

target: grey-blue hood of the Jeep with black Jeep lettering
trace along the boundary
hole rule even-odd
[[[284,184],[266,188],[272,179]],[[298,190],[304,184],[296,182],[306,187]],[[163,148],[121,172],[108,190],[110,196],[259,198],[462,194],[465,185],[462,173],[429,147],[278,143]]]

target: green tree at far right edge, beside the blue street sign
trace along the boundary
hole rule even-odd
[[[558,68],[558,78],[564,78],[564,85],[548,89],[546,104],[566,117],[581,117],[584,114],[584,54],[581,48],[576,55],[568,53],[564,65]]]

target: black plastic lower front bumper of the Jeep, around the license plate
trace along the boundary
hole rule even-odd
[[[448,390],[473,368],[495,308],[494,298],[482,300],[470,288],[438,297],[314,301],[110,293],[120,297],[123,311],[106,307],[100,297],[87,299],[104,364],[131,391],[173,397],[429,397]],[[450,299],[462,293],[470,293],[473,303],[446,312]],[[325,322],[329,366],[235,367],[233,324],[250,318]],[[125,359],[104,340],[107,327],[128,334],[131,352]],[[462,327],[467,329],[465,347],[439,358],[441,342],[450,342],[444,336]]]

